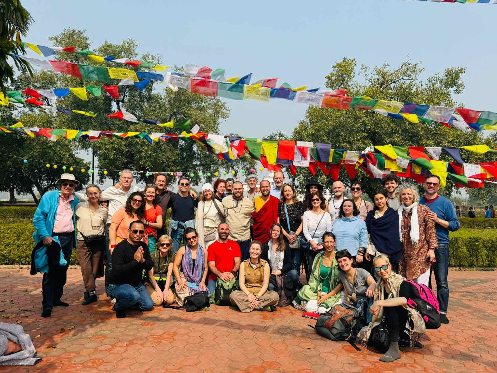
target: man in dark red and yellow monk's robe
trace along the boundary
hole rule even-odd
[[[262,242],[262,245],[264,245],[271,239],[271,225],[278,221],[279,199],[269,194],[271,185],[267,180],[262,180],[259,188],[262,195],[253,200],[255,212],[252,214],[252,231],[253,239]]]

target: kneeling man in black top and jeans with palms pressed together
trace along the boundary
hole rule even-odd
[[[145,234],[145,224],[141,220],[131,222],[128,233],[127,240],[111,249],[108,293],[116,298],[117,318],[126,317],[125,309],[129,307],[142,311],[154,308],[154,301],[141,283],[143,270],[150,271],[154,267],[147,244],[140,241]]]

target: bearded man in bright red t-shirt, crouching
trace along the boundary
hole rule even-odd
[[[230,226],[221,223],[218,226],[219,239],[209,245],[207,249],[207,264],[209,265],[209,281],[207,288],[209,294],[216,289],[217,279],[224,282],[233,280],[237,276],[242,263],[242,252],[236,241],[228,239]]]

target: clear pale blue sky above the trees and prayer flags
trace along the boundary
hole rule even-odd
[[[424,76],[465,66],[466,107],[497,111],[497,4],[403,0],[334,1],[34,1],[23,0],[35,24],[25,41],[50,46],[66,27],[85,29],[93,46],[134,38],[140,53],[162,54],[167,65],[194,63],[253,73],[293,87],[324,87],[344,56],[358,65],[397,66],[421,60]],[[36,57],[34,52],[28,52]],[[286,100],[227,100],[223,133],[291,134],[307,105]],[[102,128],[104,129],[104,128]],[[106,128],[105,128],[106,129]]]

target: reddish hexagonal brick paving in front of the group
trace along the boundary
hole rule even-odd
[[[491,372],[497,373],[497,272],[449,272],[450,324],[428,331],[423,349],[404,350],[395,363],[331,342],[306,326],[293,307],[241,314],[230,307],[208,312],[155,308],[116,319],[105,296],[82,306],[79,269],[70,269],[63,300],[40,317],[41,276],[0,267],[0,317],[21,321],[43,362],[0,367],[0,372]],[[98,292],[103,281],[97,281]]]

